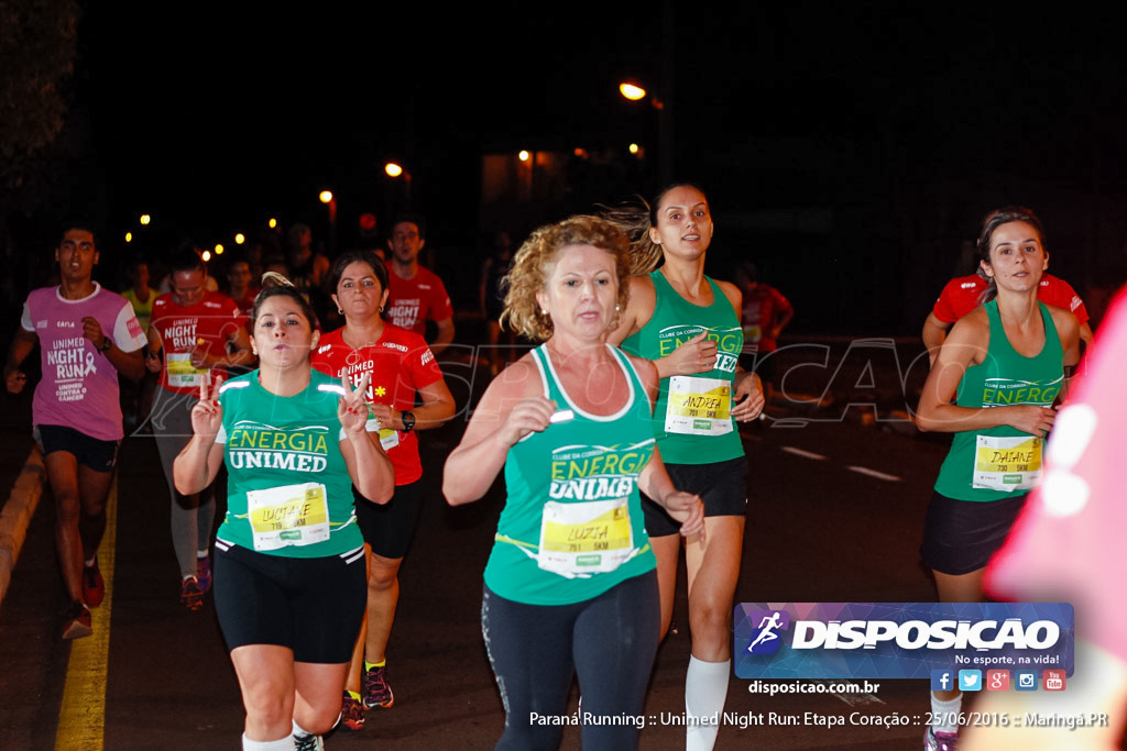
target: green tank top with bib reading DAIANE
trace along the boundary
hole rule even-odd
[[[973,409],[1038,404],[1051,406],[1064,385],[1064,349],[1053,315],[1041,303],[1045,346],[1024,357],[1010,346],[997,301],[984,305],[990,319],[990,350],[967,368],[956,404]],[[935,492],[960,501],[996,501],[1028,492],[1041,475],[1045,439],[1009,426],[957,432],[935,481]]]

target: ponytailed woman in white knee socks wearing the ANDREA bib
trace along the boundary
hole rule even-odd
[[[685,674],[685,712],[710,717],[724,709],[731,674],[731,608],[739,576],[747,502],[747,463],[737,421],[763,409],[758,377],[744,372],[739,314],[743,294],[704,275],[712,214],[692,185],[668,188],[642,209],[611,209],[635,242],[630,304],[611,342],[654,363],[662,390],[654,410],[658,447],[678,488],[704,499],[708,542],[685,538],[692,656]],[[660,268],[654,270],[658,262]],[[681,538],[645,502],[657,554],[662,635],[669,628]],[[690,748],[712,748],[717,726],[686,725]]]

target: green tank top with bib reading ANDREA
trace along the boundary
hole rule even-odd
[[[702,331],[717,342],[716,366],[694,376],[662,379],[654,405],[654,432],[662,459],[671,464],[712,464],[744,455],[736,421],[730,417],[736,364],[744,349],[744,331],[736,311],[720,286],[704,277],[712,288],[712,304],[694,305],[653,271],[654,315],[622,349],[656,360],[665,357]]]

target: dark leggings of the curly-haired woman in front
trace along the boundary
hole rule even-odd
[[[584,751],[638,746],[660,633],[656,571],[573,605],[524,605],[486,587],[481,633],[505,704],[498,749],[558,749],[564,726],[551,721],[576,673]]]

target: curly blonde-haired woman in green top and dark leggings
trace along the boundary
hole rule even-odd
[[[576,216],[532,233],[506,277],[503,323],[543,343],[489,384],[443,472],[452,506],[505,471],[481,628],[505,706],[498,749],[554,748],[573,674],[583,717],[635,717],[657,652],[655,561],[639,489],[703,533],[654,446],[653,365],[607,345],[627,304],[629,241]],[[529,665],[535,670],[530,671]],[[584,749],[637,746],[637,725],[583,723]]]

